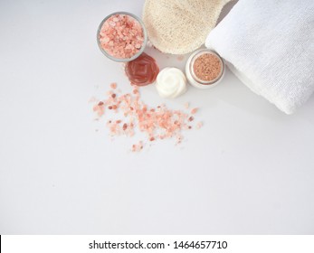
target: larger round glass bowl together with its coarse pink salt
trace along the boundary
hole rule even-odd
[[[105,17],[97,31],[100,51],[113,61],[133,61],[144,52],[147,31],[134,14],[118,12]]]

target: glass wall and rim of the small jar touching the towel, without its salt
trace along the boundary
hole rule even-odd
[[[201,80],[197,78],[197,76],[195,75],[195,71],[194,71],[195,60],[205,53],[213,54],[220,61],[221,70],[214,80],[208,80],[208,81]],[[218,53],[211,51],[209,49],[196,50],[190,55],[190,57],[186,61],[186,79],[189,81],[191,85],[193,85],[195,88],[198,88],[198,89],[210,89],[216,86],[224,78],[224,70],[225,70],[225,66],[224,66],[223,59],[219,56]]]

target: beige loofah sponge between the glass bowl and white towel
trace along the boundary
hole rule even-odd
[[[148,39],[161,52],[185,54],[205,43],[225,4],[232,0],[146,0]]]

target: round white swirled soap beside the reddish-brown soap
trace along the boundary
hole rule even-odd
[[[182,70],[165,68],[157,75],[156,88],[162,98],[176,98],[186,92],[186,76]]]

